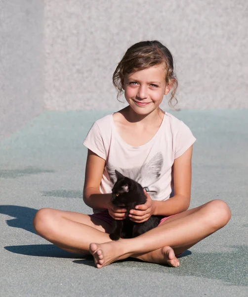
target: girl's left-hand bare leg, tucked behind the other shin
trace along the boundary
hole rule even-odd
[[[75,253],[89,253],[91,242],[111,241],[111,225],[98,218],[71,211],[42,208],[36,213],[35,231],[57,247]]]

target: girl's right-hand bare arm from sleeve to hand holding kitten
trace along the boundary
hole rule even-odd
[[[134,222],[144,222],[151,215],[169,216],[188,209],[191,195],[191,158],[193,146],[188,148],[180,157],[174,160],[173,179],[174,196],[165,201],[152,200],[148,193],[145,204],[130,210],[130,218]]]

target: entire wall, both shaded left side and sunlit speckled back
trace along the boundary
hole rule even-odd
[[[248,108],[247,16],[247,0],[0,0],[0,138],[43,107],[123,107],[112,73],[141,40],[173,53],[179,108]]]

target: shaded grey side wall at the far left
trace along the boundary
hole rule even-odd
[[[43,13],[43,1],[0,0],[0,139],[43,108]]]

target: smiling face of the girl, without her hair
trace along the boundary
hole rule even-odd
[[[159,108],[170,87],[165,84],[165,66],[158,65],[126,74],[122,80],[125,99],[137,113],[145,115]]]

